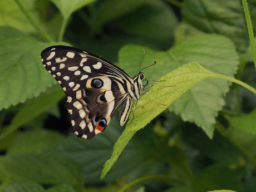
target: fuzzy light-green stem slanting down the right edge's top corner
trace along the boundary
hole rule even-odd
[[[250,12],[249,12],[249,8],[248,8],[247,0],[242,0],[242,3],[243,3],[245,21],[247,23],[248,34],[249,34],[249,39],[250,39],[250,48],[252,49],[254,66],[256,69],[256,46],[255,46],[255,40],[254,40],[254,35],[253,35],[252,19],[250,18]]]

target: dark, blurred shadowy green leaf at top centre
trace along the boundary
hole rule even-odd
[[[127,33],[153,38],[155,41],[170,41],[177,19],[166,3],[149,1],[134,12],[121,17],[117,22]]]

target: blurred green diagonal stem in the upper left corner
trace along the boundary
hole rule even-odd
[[[28,8],[26,4],[24,4],[21,0],[15,0],[18,7],[27,17],[28,21],[37,29],[37,31],[48,41],[53,42],[54,40],[42,29],[42,27],[38,24],[38,22],[29,14]]]

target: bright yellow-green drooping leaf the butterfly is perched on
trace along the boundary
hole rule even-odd
[[[115,163],[121,151],[127,145],[131,137],[136,131],[140,130],[142,127],[146,126],[152,119],[163,112],[169,105],[171,105],[181,94],[186,90],[194,86],[199,81],[205,80],[206,78],[217,77],[215,73],[206,70],[204,67],[200,66],[198,63],[189,63],[176,70],[168,73],[168,75],[160,78],[162,83],[157,83],[157,85],[171,85],[174,83],[175,87],[160,87],[154,86],[150,89],[149,93],[158,102],[165,105],[152,103],[152,98],[149,95],[142,97],[136,106],[136,125],[135,122],[131,122],[126,125],[126,129],[122,135],[117,140],[114,151],[112,153],[111,159],[107,160],[104,169],[102,170],[101,178],[103,178],[107,171],[110,170],[111,166]]]

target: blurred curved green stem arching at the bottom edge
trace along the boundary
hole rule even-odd
[[[142,176],[141,178],[131,181],[130,183],[125,185],[123,188],[121,188],[117,192],[124,192],[127,189],[131,188],[132,186],[137,185],[137,184],[142,183],[147,180],[174,180],[174,181],[176,181],[175,179],[170,178],[169,175],[147,175],[147,176]]]

